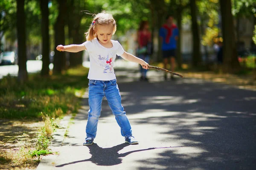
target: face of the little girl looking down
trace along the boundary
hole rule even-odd
[[[103,44],[108,44],[111,42],[110,40],[113,34],[112,24],[97,25],[95,31],[100,42]]]

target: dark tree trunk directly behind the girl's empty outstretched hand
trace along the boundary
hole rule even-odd
[[[58,17],[54,25],[55,31],[55,47],[58,45],[65,45],[65,18],[67,11],[67,0],[58,0]],[[53,73],[61,74],[66,66],[66,55],[65,52],[57,51],[55,48],[55,55],[53,61]]]

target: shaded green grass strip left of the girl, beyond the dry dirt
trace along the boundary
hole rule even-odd
[[[16,77],[3,77],[0,79],[0,118],[35,119],[41,118],[41,113],[56,118],[76,113],[79,97],[88,85],[87,74],[88,69],[83,67],[49,78],[32,74],[22,85]]]

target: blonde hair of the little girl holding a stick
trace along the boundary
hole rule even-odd
[[[96,14],[93,18],[93,21],[88,29],[88,31],[85,33],[86,40],[91,41],[94,38],[97,37],[95,28],[97,25],[108,25],[113,24],[113,34],[116,32],[116,21],[114,20],[113,16],[111,14],[108,14],[105,11],[102,11],[99,14]]]

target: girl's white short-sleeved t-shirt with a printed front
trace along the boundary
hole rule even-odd
[[[116,79],[114,74],[114,61],[116,55],[121,56],[124,49],[118,41],[111,40],[113,47],[103,47],[97,38],[92,41],[86,41],[83,45],[86,47],[90,58],[90,69],[88,79],[108,81]]]

